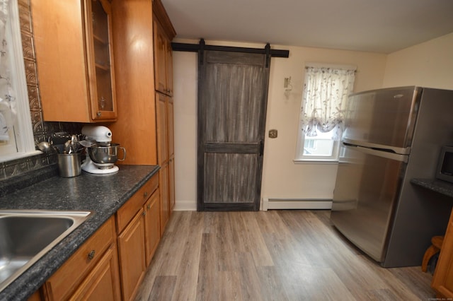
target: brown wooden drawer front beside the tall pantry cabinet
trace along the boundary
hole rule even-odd
[[[148,180],[116,213],[118,234],[132,220],[135,214],[142,209],[144,202],[159,186],[159,177],[154,175]]]

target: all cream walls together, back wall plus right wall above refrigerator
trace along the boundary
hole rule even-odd
[[[217,41],[207,41],[207,44],[264,46]],[[280,45],[272,47],[289,49],[289,58],[273,58],[271,64],[262,197],[329,199],[333,193],[336,165],[293,163],[306,62],[357,66],[355,92],[401,85],[453,89],[453,33],[388,55]],[[197,54],[174,52],[173,59],[176,210],[195,210]],[[293,89],[286,98],[283,83],[289,76]],[[267,138],[270,129],[278,130],[278,138]]]

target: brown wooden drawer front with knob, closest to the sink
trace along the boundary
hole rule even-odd
[[[64,300],[115,242],[113,217],[107,220],[45,283],[52,300]]]

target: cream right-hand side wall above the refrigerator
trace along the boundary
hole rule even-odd
[[[384,87],[453,89],[453,33],[389,54]]]

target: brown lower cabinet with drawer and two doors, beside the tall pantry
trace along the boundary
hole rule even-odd
[[[122,299],[133,300],[160,240],[159,177],[149,179],[116,213]]]

